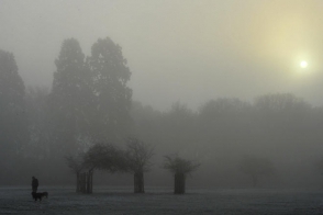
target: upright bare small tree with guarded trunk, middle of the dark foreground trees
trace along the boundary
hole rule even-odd
[[[126,158],[130,170],[134,174],[134,192],[144,193],[144,172],[151,170],[151,158],[154,155],[154,147],[145,144],[136,137],[127,138]]]

